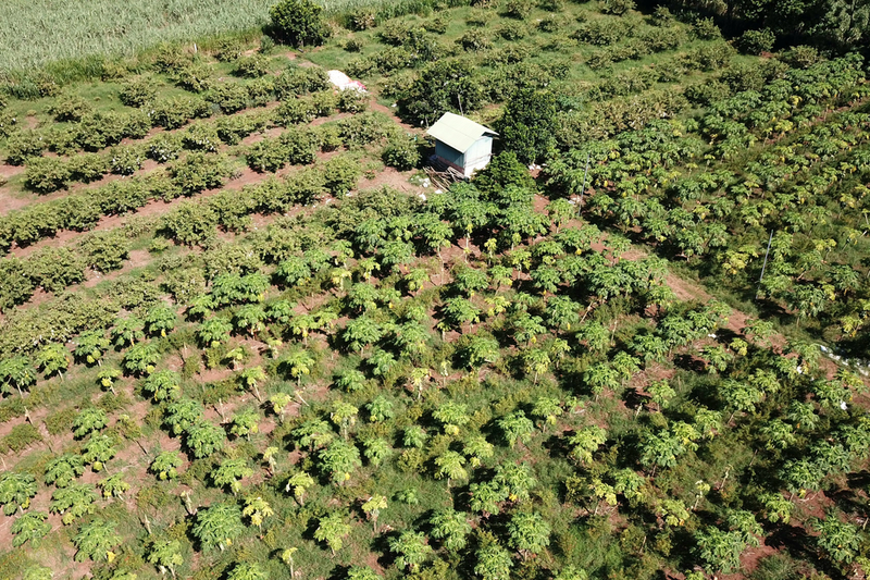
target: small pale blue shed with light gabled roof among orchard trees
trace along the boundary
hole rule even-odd
[[[426,134],[435,138],[437,160],[465,177],[489,164],[493,137],[498,137],[492,128],[453,113],[444,113]]]

